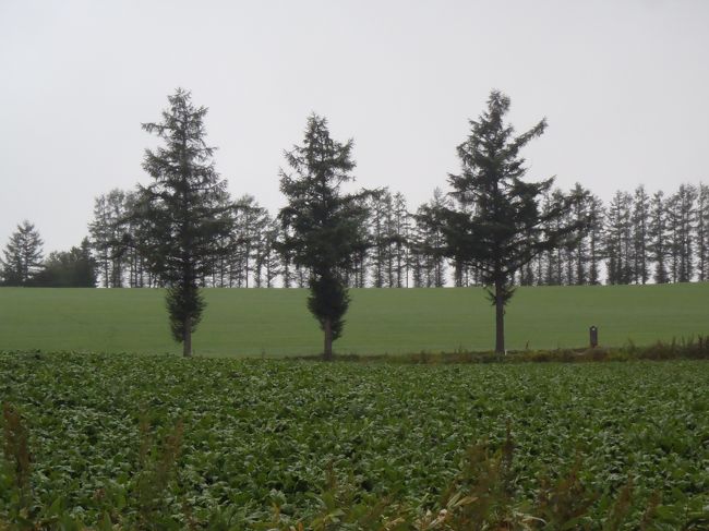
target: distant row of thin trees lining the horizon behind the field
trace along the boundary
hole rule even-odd
[[[543,212],[554,204],[549,193]],[[568,195],[568,194],[566,194]],[[682,184],[671,194],[618,191],[604,204],[580,184],[566,221],[590,216],[580,240],[545,252],[515,276],[518,286],[627,285],[709,280],[709,186]],[[251,195],[219,198],[229,213],[228,237],[204,287],[304,288],[309,271],[296,267],[278,244],[281,225]],[[477,286],[479,274],[445,257],[444,220],[452,200],[436,189],[412,209],[401,193],[383,189],[369,196],[370,215],[360,230],[365,242],[345,271],[351,288]],[[88,237],[79,246],[44,256],[43,241],[28,221],[19,225],[0,257],[4,286],[159,287],[142,252],[144,227],[137,191],[112,190],[95,200]],[[563,222],[566,222],[562,220]],[[553,227],[549,227],[553,230]]]

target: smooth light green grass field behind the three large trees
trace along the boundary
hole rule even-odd
[[[339,353],[489,350],[494,314],[482,289],[352,290]],[[208,289],[194,336],[197,354],[313,354],[321,333],[305,290]],[[709,283],[539,287],[517,290],[507,310],[513,350],[600,342],[649,345],[709,334]],[[0,288],[0,350],[178,352],[164,292],[153,289]]]

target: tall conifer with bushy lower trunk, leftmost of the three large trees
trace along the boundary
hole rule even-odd
[[[154,181],[140,186],[146,216],[145,249],[149,267],[167,287],[172,336],[192,355],[192,333],[205,302],[200,282],[209,275],[219,254],[218,241],[229,233],[224,206],[226,182],[206,145],[206,107],[195,107],[191,95],[178,88],[159,123],[144,123],[164,146],[146,149],[143,168]]]

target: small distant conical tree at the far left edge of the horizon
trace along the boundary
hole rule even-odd
[[[43,245],[39,232],[26,219],[17,225],[0,260],[0,276],[5,286],[27,286],[41,269]]]

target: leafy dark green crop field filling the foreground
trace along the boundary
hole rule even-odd
[[[708,388],[701,361],[2,353],[0,528],[708,529]]]

